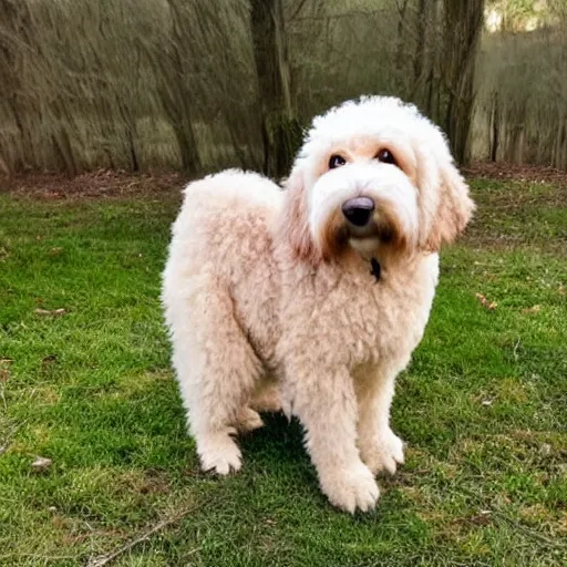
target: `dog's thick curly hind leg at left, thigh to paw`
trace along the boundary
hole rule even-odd
[[[172,320],[173,362],[202,467],[238,471],[234,440],[261,373],[261,363],[235,318],[226,290],[208,282],[177,298]]]

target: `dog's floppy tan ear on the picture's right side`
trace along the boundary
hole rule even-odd
[[[437,157],[437,206],[425,243],[427,250],[439,250],[443,244],[452,243],[464,230],[475,209],[468,196],[468,186],[453,164],[449,151]]]

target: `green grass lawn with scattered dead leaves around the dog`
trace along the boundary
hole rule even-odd
[[[278,416],[198,472],[158,303],[176,192],[0,194],[0,565],[566,565],[567,190],[472,186],[399,380],[408,463],[353,517]]]

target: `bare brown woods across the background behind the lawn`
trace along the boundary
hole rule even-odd
[[[471,157],[567,169],[564,0],[0,0],[0,171],[280,177],[360,94]]]

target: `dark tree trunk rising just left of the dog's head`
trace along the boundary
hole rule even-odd
[[[275,178],[289,173],[301,143],[291,102],[291,78],[282,0],[251,0],[254,58],[264,143],[264,172]]]

